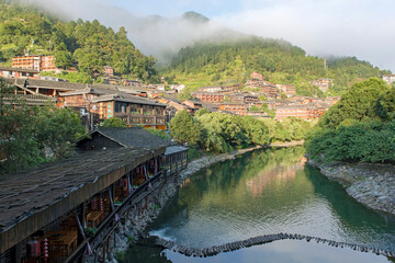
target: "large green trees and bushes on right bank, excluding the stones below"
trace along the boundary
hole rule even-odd
[[[395,162],[394,90],[379,79],[350,91],[307,135],[313,159],[334,162]]]

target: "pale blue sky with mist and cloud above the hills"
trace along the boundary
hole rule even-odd
[[[32,0],[26,0],[32,1]],[[34,0],[67,19],[98,19],[145,54],[162,58],[223,28],[282,38],[314,56],[356,56],[395,72],[395,0]],[[195,11],[211,22],[180,16]],[[168,20],[144,20],[160,15]]]

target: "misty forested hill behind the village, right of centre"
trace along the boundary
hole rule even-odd
[[[325,62],[323,58],[306,56],[302,48],[285,41],[244,37],[184,47],[173,58],[168,75],[198,87],[245,81],[252,71],[262,72],[276,83],[296,84],[297,93],[304,95],[318,92],[309,83],[318,78],[334,79],[330,94],[338,95],[356,81],[387,72],[354,57],[332,57]]]

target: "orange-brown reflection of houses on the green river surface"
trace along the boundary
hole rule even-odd
[[[268,186],[276,182],[292,181],[296,178],[296,172],[304,169],[305,158],[300,163],[276,167],[273,170],[260,172],[257,176],[246,182],[247,188],[253,196],[261,195]]]

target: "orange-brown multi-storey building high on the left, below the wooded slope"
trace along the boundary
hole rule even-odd
[[[12,58],[12,68],[22,68],[43,71],[60,72],[60,69],[55,65],[54,56],[33,55],[33,56],[18,56]]]

